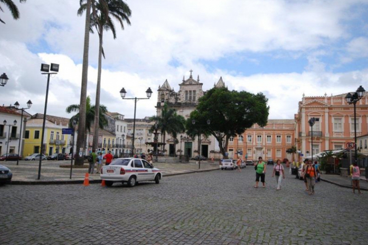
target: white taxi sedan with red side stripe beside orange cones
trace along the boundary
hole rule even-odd
[[[117,158],[102,167],[100,177],[105,180],[106,186],[121,182],[133,187],[140,181],[155,181],[158,184],[162,179],[162,173],[144,159]]]

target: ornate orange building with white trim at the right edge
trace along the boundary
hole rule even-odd
[[[304,157],[324,150],[346,148],[354,141],[354,105],[345,100],[346,94],[337,96],[305,97],[299,102],[295,114],[296,147]],[[312,130],[308,121],[318,119]],[[368,133],[368,93],[356,104],[357,137]]]

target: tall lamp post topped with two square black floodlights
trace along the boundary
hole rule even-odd
[[[52,71],[53,73],[49,72]],[[51,63],[51,67],[48,64],[41,64],[41,74],[47,75],[47,86],[46,86],[46,98],[45,98],[45,110],[44,110],[44,119],[42,123],[42,133],[41,133],[41,156],[40,162],[38,164],[38,177],[37,179],[41,178],[41,162],[42,162],[42,154],[44,152],[44,136],[45,136],[45,123],[46,123],[46,111],[47,111],[47,98],[49,96],[49,84],[50,84],[50,75],[57,74],[59,72],[59,65]]]

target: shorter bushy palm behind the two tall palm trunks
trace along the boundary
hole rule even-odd
[[[91,105],[91,98],[89,98],[89,96],[88,96],[87,99],[86,99],[85,128],[82,129],[84,135],[85,135],[86,130],[88,130],[88,132],[91,132],[91,125],[92,125],[92,123],[94,123],[94,120],[95,120],[95,107],[96,107],[95,105]],[[80,121],[80,115],[82,115],[80,113],[80,105],[77,105],[77,104],[69,105],[66,108],[66,112],[67,113],[77,112],[77,114],[74,115],[73,117],[71,117],[71,119],[69,120],[69,127],[72,128],[73,127],[73,121],[75,121],[77,123],[79,123],[79,121]],[[100,105],[99,106],[99,112],[100,112],[101,115],[104,115],[104,113],[107,112],[106,106],[105,105]],[[105,116],[99,117],[98,125],[99,125],[100,128],[104,128],[104,126],[107,126],[107,124],[108,124],[108,121],[105,118]],[[78,127],[78,130],[79,130],[79,127]],[[82,133],[82,132],[78,131],[78,135],[80,133]],[[98,136],[98,133],[94,132],[94,135],[96,135],[96,134]],[[82,148],[84,148],[84,147],[82,147]],[[76,165],[83,165],[83,162],[81,164],[76,162]]]

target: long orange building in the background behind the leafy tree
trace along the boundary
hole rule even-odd
[[[229,158],[241,156],[246,160],[263,160],[288,158],[292,160],[291,154],[286,150],[294,146],[295,123],[292,119],[268,120],[267,125],[260,127],[254,124],[242,135],[230,138],[228,145]],[[241,154],[241,155],[240,155]]]

